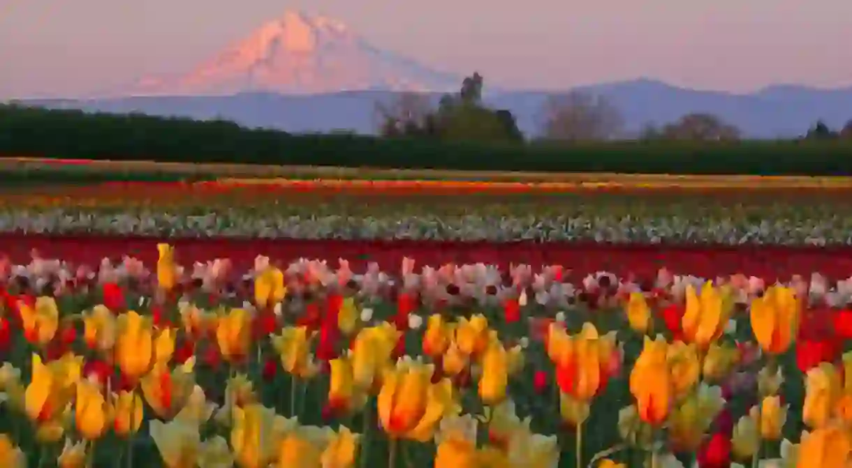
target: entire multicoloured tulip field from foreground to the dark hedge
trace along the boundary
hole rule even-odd
[[[849,180],[244,175],[0,187],[0,468],[852,466]]]

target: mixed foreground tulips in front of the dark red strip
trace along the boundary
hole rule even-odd
[[[158,254],[2,265],[0,465],[852,462],[846,281]]]

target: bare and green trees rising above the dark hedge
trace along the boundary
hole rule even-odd
[[[400,94],[376,107],[379,134],[435,140],[522,141],[524,135],[508,110],[491,109],[482,102],[484,78],[464,78],[456,94],[445,94],[433,106],[429,95]],[[742,132],[721,117],[696,112],[676,122],[648,125],[639,134],[627,134],[619,109],[605,96],[573,91],[554,94],[539,110],[541,134],[534,140],[555,143],[607,140],[738,141]],[[852,119],[838,130],[819,121],[800,140],[852,140]]]

